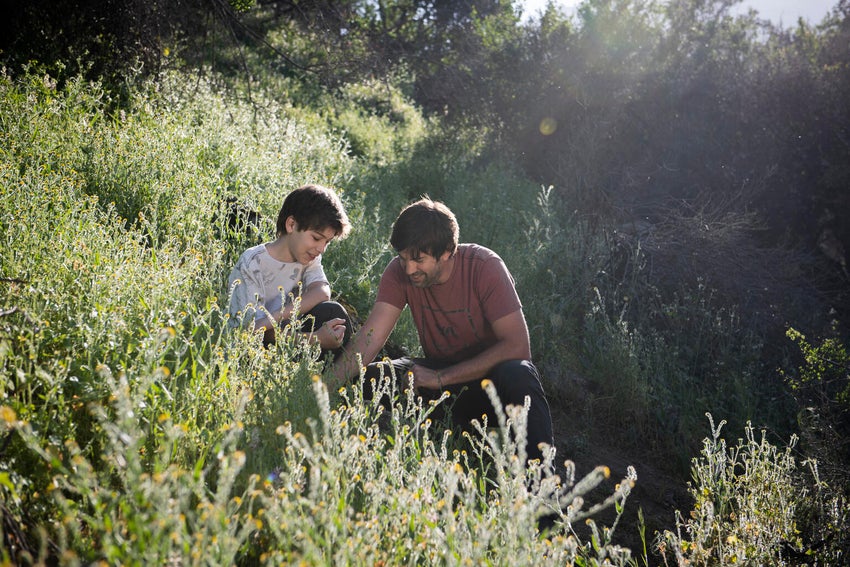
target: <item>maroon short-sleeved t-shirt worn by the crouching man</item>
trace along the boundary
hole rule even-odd
[[[410,306],[425,356],[446,362],[471,358],[496,342],[491,323],[522,309],[502,259],[477,244],[461,244],[445,283],[418,288],[398,257],[387,265],[377,301]]]

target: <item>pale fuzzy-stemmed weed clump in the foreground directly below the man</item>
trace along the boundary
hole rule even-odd
[[[593,542],[582,543],[572,523],[605,505],[622,504],[633,478],[606,503],[583,509],[583,498],[605,478],[595,471],[578,483],[552,473],[554,451],[526,469],[523,451],[527,408],[502,411],[496,431],[480,423],[456,434],[431,419],[447,394],[423,403],[395,380],[375,384],[374,399],[396,394],[386,409],[361,401],[361,386],[342,389],[333,407],[325,384],[313,389],[319,419],[307,434],[291,422],[281,467],[260,499],[264,528],[253,543],[261,564],[626,564],[628,550],[611,544],[612,532],[592,524]],[[486,386],[497,407],[492,384]],[[493,467],[479,466],[486,460]],[[541,535],[537,520],[557,511],[565,530]]]

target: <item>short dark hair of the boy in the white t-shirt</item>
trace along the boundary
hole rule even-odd
[[[286,219],[295,218],[298,230],[330,228],[338,238],[351,230],[348,215],[336,193],[321,185],[302,185],[283,200],[277,215],[277,234],[286,234]]]

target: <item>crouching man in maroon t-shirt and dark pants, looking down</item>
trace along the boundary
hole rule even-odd
[[[521,406],[529,397],[527,454],[541,459],[538,444],[554,445],[552,418],[531,362],[513,277],[492,250],[458,244],[458,233],[457,220],[443,203],[422,199],[402,210],[390,237],[398,256],[384,270],[375,306],[339,361],[337,376],[347,380],[357,374],[357,353],[364,362],[373,361],[410,306],[425,358],[393,360],[396,376],[412,372],[423,397],[449,390],[452,419],[461,425],[485,413],[495,423],[481,388],[484,379],[493,382],[505,406]],[[367,388],[381,364],[368,365]]]

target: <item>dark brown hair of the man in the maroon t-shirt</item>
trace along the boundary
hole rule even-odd
[[[454,254],[460,230],[454,213],[439,201],[428,197],[405,207],[393,223],[390,244],[396,252],[424,252],[439,258],[443,252]]]

